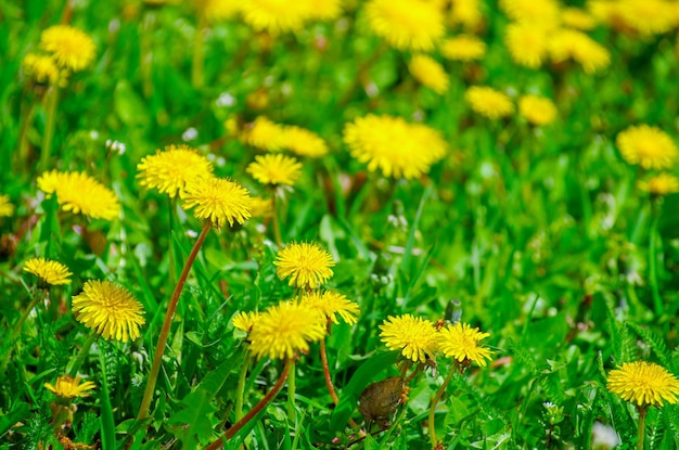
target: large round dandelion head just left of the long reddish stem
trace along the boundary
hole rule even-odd
[[[145,323],[142,305],[123,286],[90,280],[72,300],[76,319],[105,339],[134,340]]]

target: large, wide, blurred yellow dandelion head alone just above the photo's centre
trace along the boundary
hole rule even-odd
[[[440,133],[425,125],[372,114],[345,125],[344,142],[353,157],[368,163],[368,170],[406,179],[426,173],[447,150]]]

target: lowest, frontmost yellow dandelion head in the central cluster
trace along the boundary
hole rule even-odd
[[[308,306],[282,301],[259,314],[249,333],[249,349],[257,358],[294,358],[308,352],[309,343],[323,338],[324,325]]]

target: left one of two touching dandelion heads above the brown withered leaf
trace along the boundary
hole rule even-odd
[[[401,355],[414,362],[426,362],[437,349],[434,324],[412,314],[389,316],[380,325],[380,337],[389,350],[400,350]]]

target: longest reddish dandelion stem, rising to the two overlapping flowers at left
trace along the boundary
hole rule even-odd
[[[163,322],[163,327],[161,329],[161,334],[158,335],[158,344],[155,348],[155,353],[153,356],[153,364],[151,365],[151,372],[149,373],[149,381],[146,382],[146,388],[144,390],[144,397],[141,400],[141,404],[139,407],[139,413],[137,413],[137,420],[142,421],[149,417],[149,408],[151,407],[151,399],[153,398],[153,390],[155,389],[155,384],[158,381],[158,373],[161,372],[161,365],[163,363],[163,353],[165,352],[165,345],[167,344],[167,338],[169,336],[170,326],[172,324],[172,318],[175,317],[175,310],[177,309],[177,304],[179,303],[179,296],[181,295],[181,291],[183,290],[184,283],[187,282],[187,278],[189,277],[189,272],[191,271],[191,266],[193,266],[193,261],[195,257],[198,255],[198,250],[209,232],[209,229],[213,227],[212,221],[206,220],[203,226],[203,230],[201,230],[201,234],[198,239],[195,241],[189,257],[187,258],[187,262],[184,262],[184,268],[179,275],[179,280],[177,280],[177,285],[175,286],[175,291],[172,292],[172,296],[170,297],[169,305],[167,306],[167,312],[165,313],[165,321]]]

